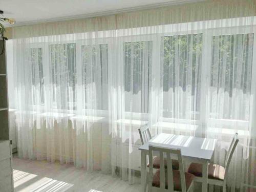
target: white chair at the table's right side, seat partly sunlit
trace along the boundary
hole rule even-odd
[[[208,165],[208,183],[218,186],[223,186],[223,192],[226,192],[226,181],[228,177],[228,168],[234,150],[236,150],[238,144],[238,134],[236,133],[229,146],[227,156],[225,159],[224,167],[218,164],[209,163]],[[195,181],[201,182],[202,179],[202,164],[191,163],[188,168],[188,173],[196,176]]]

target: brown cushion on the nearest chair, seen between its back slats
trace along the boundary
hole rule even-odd
[[[181,182],[180,182],[180,171],[179,170],[173,170],[173,176],[174,176],[174,190],[181,191]],[[189,188],[190,184],[192,183],[194,179],[193,174],[185,173],[185,182],[186,182],[186,189]],[[168,178],[167,178],[167,169],[165,169],[165,188],[168,188]],[[160,187],[160,170],[158,169],[157,172],[153,176],[153,183],[152,186],[154,187]]]

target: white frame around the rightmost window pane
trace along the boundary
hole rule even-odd
[[[223,30],[225,29],[225,30]],[[201,123],[203,126],[207,124],[207,122],[215,122],[215,123],[221,123],[222,128],[225,126],[225,129],[227,130],[233,130],[232,124],[237,123],[237,127],[240,130],[247,131],[250,127],[250,119],[252,117],[252,108],[250,108],[249,114],[249,120],[239,120],[239,119],[216,119],[216,118],[210,118],[209,117],[209,111],[207,111],[207,106],[209,105],[209,101],[207,101],[207,95],[208,95],[208,89],[210,88],[210,76],[211,76],[211,53],[212,53],[212,38],[214,36],[221,36],[221,35],[240,35],[240,34],[253,34],[253,53],[252,53],[252,68],[251,68],[251,92],[250,92],[250,104],[253,104],[253,96],[256,94],[256,65],[253,65],[253,63],[256,63],[256,26],[253,26],[253,29],[248,26],[236,26],[236,27],[222,27],[222,28],[211,28],[207,29],[207,33],[204,33],[204,42],[203,42],[203,60],[202,63],[206,63],[207,65],[202,66],[202,77],[201,79],[205,79],[205,83],[203,88],[201,88],[201,102],[203,102],[202,98],[205,100],[205,104],[201,104],[202,109],[201,111]],[[208,109],[209,110],[209,109]]]

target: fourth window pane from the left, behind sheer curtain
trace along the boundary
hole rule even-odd
[[[127,112],[149,112],[152,44],[152,41],[124,42],[123,44],[125,111]],[[133,102],[130,102],[131,100]]]

